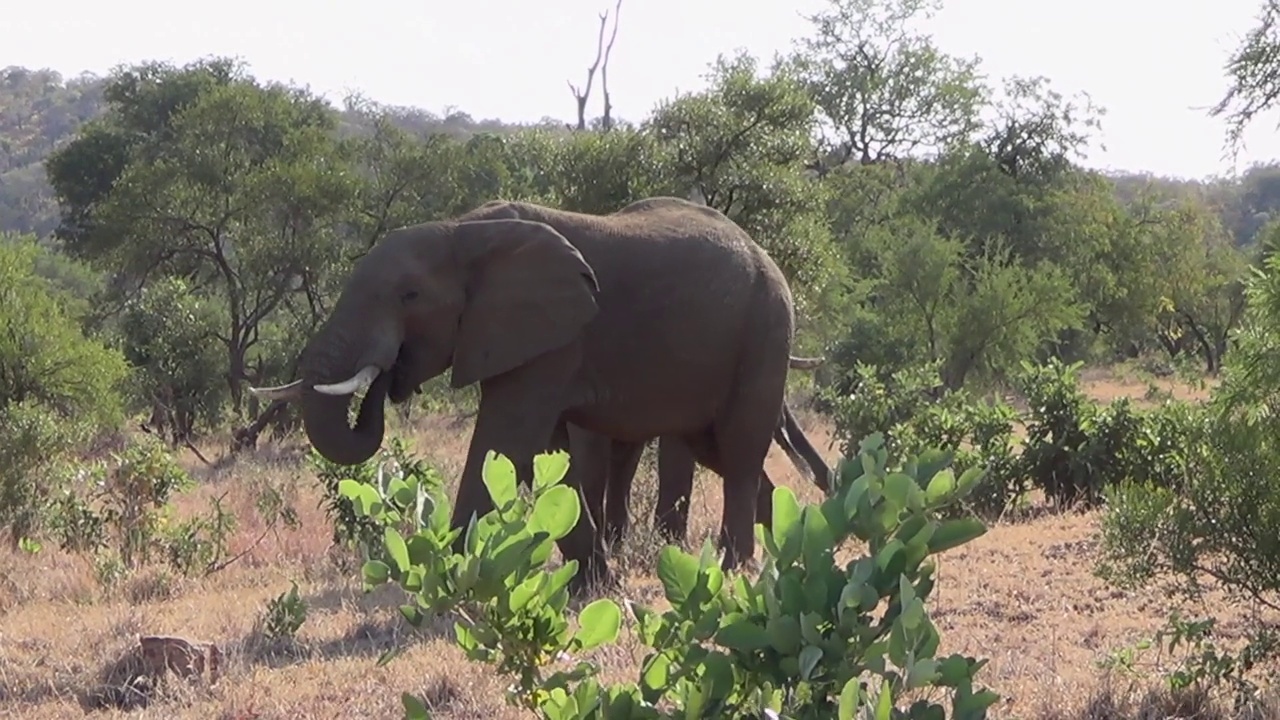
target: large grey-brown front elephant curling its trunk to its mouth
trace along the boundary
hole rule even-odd
[[[600,217],[494,201],[387,233],[303,348],[301,377],[259,393],[297,398],[311,445],[357,464],[381,445],[387,398],[449,368],[453,387],[480,383],[454,527],[493,507],[488,451],[527,483],[534,455],[568,447],[570,423],[631,443],[678,437],[724,480],[719,539],[733,568],[755,551],[794,334],[782,273],[714,209],[654,197]],[[593,477],[605,475],[575,459],[566,483],[581,491]],[[584,515],[559,541],[579,561],[576,589],[609,580],[599,519]]]

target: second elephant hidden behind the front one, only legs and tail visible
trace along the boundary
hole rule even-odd
[[[791,357],[792,369],[814,369],[822,364],[822,359]],[[800,430],[791,414],[791,409],[782,406],[782,425],[774,434],[774,441],[786,452],[787,457],[796,466],[801,475],[808,477],[814,484],[827,491],[829,484],[831,468],[818,454],[809,438]],[[605,439],[605,442],[608,442]],[[571,443],[572,445],[572,443]],[[577,448],[581,445],[573,445]],[[631,484],[635,479],[636,469],[640,464],[640,454],[644,443],[625,443],[612,441],[608,448],[611,457],[607,462],[608,478],[604,480],[604,492],[594,498],[596,506],[593,507],[594,516],[603,516],[602,532],[605,542],[616,543],[621,541],[628,529]],[[603,464],[603,462],[602,462]],[[589,487],[596,487],[589,483]],[[672,541],[682,541],[689,529],[689,501],[694,487],[694,456],[680,441],[678,436],[662,436],[658,438],[658,501],[654,505],[654,524],[658,532]],[[768,474],[760,471],[760,488],[756,500],[755,521],[765,527],[773,521],[773,482]],[[603,509],[599,507],[603,505]]]

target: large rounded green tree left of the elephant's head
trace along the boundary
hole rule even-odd
[[[63,237],[134,291],[166,274],[218,295],[238,413],[243,383],[284,361],[253,354],[265,324],[339,258],[353,187],[333,111],[229,61],[125,70],[106,96],[108,117],[50,163]]]

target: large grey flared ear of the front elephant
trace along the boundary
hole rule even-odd
[[[467,299],[453,350],[453,387],[562,347],[595,316],[595,272],[550,225],[474,220],[458,223],[454,237]]]

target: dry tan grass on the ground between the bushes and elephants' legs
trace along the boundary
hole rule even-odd
[[[1142,398],[1146,384],[1091,374],[1096,397]],[[1190,391],[1179,391],[1189,393]],[[801,418],[815,445],[835,459],[829,428]],[[417,424],[415,450],[445,477],[457,477],[471,423],[430,418]],[[317,509],[310,478],[287,459],[260,457],[223,470],[193,462],[204,482],[183,500],[200,507],[215,495],[241,519],[233,552],[262,528],[253,511],[255,487],[288,489],[302,527],[269,534],[239,562],[205,580],[184,580],[159,569],[145,570],[122,588],[104,592],[83,560],[45,550],[37,556],[0,551],[0,716],[69,717],[101,698],[120,659],[140,634],[172,634],[210,641],[224,652],[224,676],[206,684],[168,683],[131,717],[398,717],[399,693],[425,694],[442,719],[502,720],[522,715],[504,707],[499,679],[470,665],[440,623],[385,667],[375,660],[404,628],[392,588],[364,596],[349,571],[329,553],[330,527]],[[818,492],[800,479],[773,448],[768,470],[776,482],[805,500]],[[634,511],[652,507],[653,465],[637,478]],[[721,511],[717,482],[699,473],[690,542],[713,537]],[[1096,661],[1110,650],[1157,628],[1170,610],[1157,592],[1121,593],[1092,575],[1093,515],[1048,516],[997,525],[977,542],[943,556],[934,615],[943,652],[989,657],[986,684],[1004,696],[997,717],[1212,717],[1176,712],[1167,697],[1143,701],[1132,688],[1107,684]],[[627,597],[658,603],[654,548],[641,521],[637,539],[620,552]],[[261,639],[257,621],[266,603],[297,582],[308,616],[297,642]],[[1208,610],[1222,618],[1230,637],[1249,621],[1248,607]],[[613,679],[627,678],[639,648],[623,642],[603,648],[596,660]],[[1142,688],[1139,688],[1142,689]],[[1125,705],[1125,703],[1129,705]],[[1140,702],[1148,708],[1139,711]],[[1196,698],[1181,698],[1194,707]],[[1155,703],[1155,705],[1152,705]],[[1187,705],[1190,703],[1190,705]],[[105,716],[124,715],[106,710]]]

